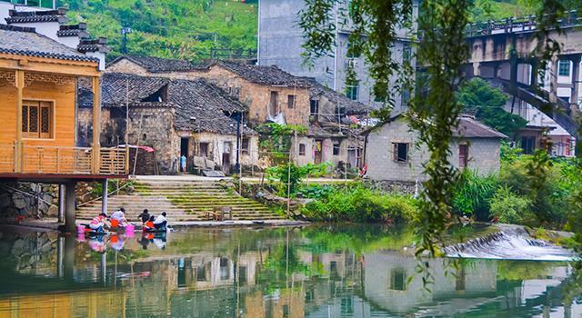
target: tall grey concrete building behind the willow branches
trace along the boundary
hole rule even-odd
[[[353,30],[349,21],[344,23],[344,14],[348,12],[349,1],[338,1],[333,15],[336,17],[336,48],[333,56],[319,58],[315,67],[309,69],[303,65],[304,38],[298,25],[298,13],[305,7],[303,0],[260,0],[258,13],[258,65],[277,65],[282,70],[297,76],[314,77],[320,84],[336,92],[347,94],[353,100],[371,106],[380,106],[372,94],[373,80],[368,75],[363,56],[347,54],[348,37]],[[413,15],[417,15],[417,2]],[[396,61],[410,58],[412,52],[411,38],[414,30],[397,31],[398,40],[393,52]],[[413,61],[414,62],[414,61]],[[358,77],[355,85],[346,85],[346,69],[351,66]],[[414,63],[413,63],[414,66]],[[394,78],[396,81],[396,77]],[[406,106],[409,93],[395,96],[396,110]]]

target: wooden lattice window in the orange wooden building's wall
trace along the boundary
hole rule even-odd
[[[26,120],[23,118],[22,136],[24,140],[55,140],[55,129],[56,129],[56,106],[55,100],[49,99],[39,99],[39,98],[23,98],[23,113],[27,112]],[[45,104],[45,105],[44,105]],[[30,133],[30,107],[38,107],[37,115],[37,132]],[[48,114],[48,133],[42,133],[42,122],[41,113],[43,108],[49,109]],[[21,116],[23,114],[20,114]],[[24,125],[27,124],[26,131],[23,129]]]

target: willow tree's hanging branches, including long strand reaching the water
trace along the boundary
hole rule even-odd
[[[344,0],[305,0],[306,6],[299,13],[299,25],[303,28],[306,64],[313,65],[316,58],[333,55],[336,47],[336,9],[345,5]],[[560,31],[560,21],[566,18],[567,7],[578,7],[579,0],[541,0],[537,11],[537,46],[532,57],[539,61],[537,73],[547,69],[547,62],[560,46],[549,34]],[[437,253],[436,244],[442,242],[447,228],[447,214],[451,212],[454,185],[458,171],[448,162],[451,127],[458,124],[463,105],[458,103],[456,91],[461,66],[468,58],[468,42],[465,30],[469,23],[471,0],[424,0],[419,2],[418,18],[412,15],[413,0],[351,0],[342,19],[351,20],[351,53],[366,57],[369,74],[375,80],[374,94],[386,101],[384,115],[393,105],[391,95],[402,93],[411,83],[406,75],[410,71],[406,63],[396,60],[391,47],[401,26],[418,25],[420,36],[416,46],[416,60],[426,70],[426,80],[416,84],[415,98],[410,103],[410,125],[426,144],[430,157],[424,165],[428,180],[423,184],[420,213],[416,229],[420,243],[416,255]],[[350,52],[348,52],[350,53]],[[391,77],[400,75],[396,84]],[[386,117],[385,117],[386,118]],[[425,268],[428,263],[421,263]],[[427,271],[425,271],[426,273]],[[428,275],[428,274],[427,274]],[[425,283],[430,281],[424,280]]]

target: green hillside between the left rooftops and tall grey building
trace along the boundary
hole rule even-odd
[[[71,23],[86,22],[121,54],[122,26],[130,26],[127,51],[138,55],[206,58],[212,48],[256,50],[257,4],[232,0],[61,0]]]

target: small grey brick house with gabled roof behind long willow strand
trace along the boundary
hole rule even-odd
[[[426,181],[423,164],[428,149],[420,144],[418,133],[412,131],[404,115],[396,114],[390,121],[366,134],[367,176],[374,181],[415,183]],[[499,170],[501,134],[469,116],[462,116],[453,131],[449,162],[459,168],[468,168],[478,174],[492,174]]]

